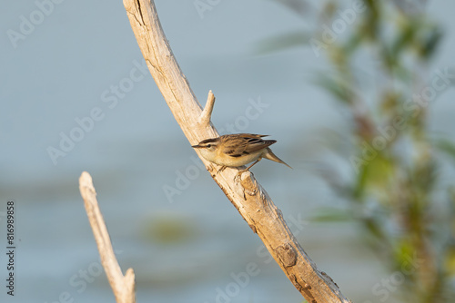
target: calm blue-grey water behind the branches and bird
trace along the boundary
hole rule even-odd
[[[94,179],[122,269],[135,269],[137,302],[302,300],[200,170],[153,79],[141,72],[143,59],[121,2],[65,1],[47,6],[41,22],[33,1],[4,6],[0,211],[15,200],[16,301],[114,301],[78,191],[82,171]],[[453,6],[428,8],[447,29],[434,63],[440,68],[453,64]],[[314,171],[324,130],[349,127],[327,93],[309,81],[325,61],[308,48],[255,53],[262,39],[308,24],[271,1],[220,1],[203,18],[194,2],[160,1],[157,9],[199,102],[205,103],[208,90],[215,93],[218,130],[278,140],[274,151],[294,170],[262,161],[252,171],[309,256],[349,298],[378,300],[371,288],[386,274],[362,246],[356,226],[306,221],[339,201]],[[20,31],[21,15],[38,19],[12,43],[8,31]],[[359,68],[374,83],[371,66]],[[123,93],[114,93],[115,87]],[[453,97],[453,89],[444,92],[430,112],[434,132],[451,137]],[[77,131],[77,121],[86,131]],[[71,136],[78,142],[63,139]],[[66,152],[53,159],[49,151],[62,151],[60,144]],[[181,175],[188,180],[178,190]],[[178,192],[169,196],[168,188]],[[5,248],[4,223],[2,218]],[[0,280],[5,262],[2,254]],[[2,302],[12,302],[0,289]]]

